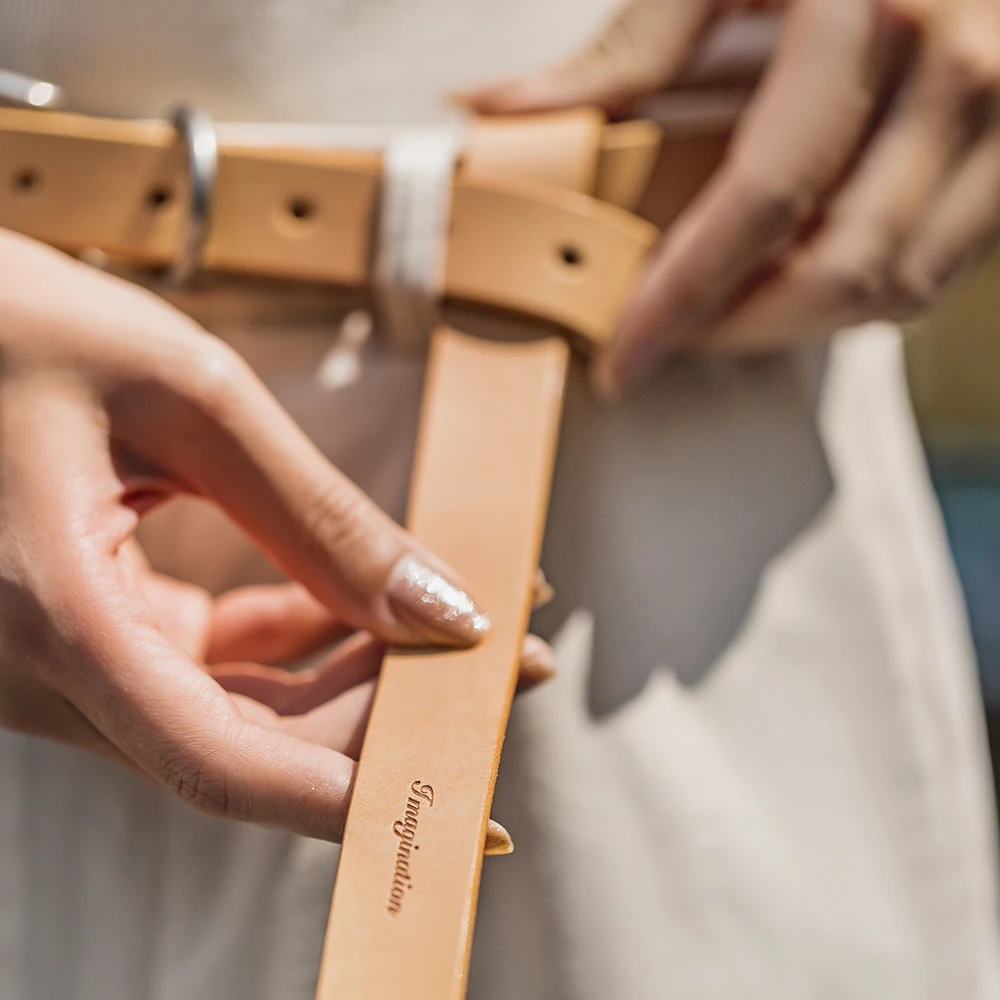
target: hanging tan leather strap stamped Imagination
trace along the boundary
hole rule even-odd
[[[568,348],[439,330],[410,527],[482,594],[474,649],[387,657],[358,767],[318,1000],[459,1000],[527,628]],[[477,598],[478,599],[478,598]]]

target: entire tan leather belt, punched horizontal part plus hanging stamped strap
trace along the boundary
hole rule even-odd
[[[627,209],[657,144],[644,123],[605,128],[589,112],[474,128],[454,183],[447,294],[606,340],[655,236]],[[0,177],[0,226],[141,264],[169,264],[181,245],[185,155],[165,124],[2,110]],[[203,266],[364,285],[378,185],[376,156],[223,148]],[[553,334],[432,338],[409,526],[493,627],[471,650],[386,659],[319,1000],[464,996],[568,353]]]

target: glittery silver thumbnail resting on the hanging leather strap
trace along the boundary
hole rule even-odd
[[[386,591],[396,616],[429,642],[471,646],[490,628],[490,616],[461,587],[415,556],[404,556]]]

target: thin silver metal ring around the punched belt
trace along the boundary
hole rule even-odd
[[[187,153],[190,184],[180,255],[167,275],[167,282],[179,288],[190,280],[201,264],[212,218],[219,144],[211,116],[198,108],[182,104],[174,110],[171,121]]]

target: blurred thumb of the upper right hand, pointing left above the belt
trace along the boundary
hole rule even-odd
[[[541,73],[458,95],[482,114],[596,104],[618,110],[669,83],[719,0],[631,0],[587,48]]]

